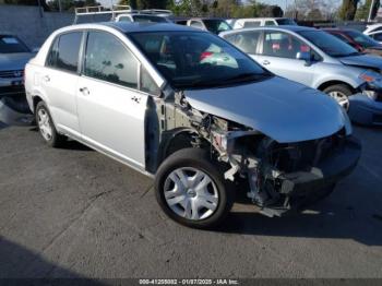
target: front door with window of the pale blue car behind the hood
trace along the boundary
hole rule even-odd
[[[319,57],[309,45],[296,36],[279,32],[264,31],[260,53],[254,59],[273,73],[286,79],[311,85]],[[312,61],[297,59],[298,52],[312,52]]]

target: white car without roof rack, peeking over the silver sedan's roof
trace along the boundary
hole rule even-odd
[[[208,31],[213,34],[219,34],[220,32],[230,31],[232,27],[222,17],[192,17],[187,21],[180,20],[176,22],[180,25],[187,25],[190,27]]]

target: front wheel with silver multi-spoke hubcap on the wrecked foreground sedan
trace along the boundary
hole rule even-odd
[[[224,179],[224,170],[223,166],[212,162],[204,150],[177,151],[156,172],[156,200],[177,223],[193,228],[217,226],[234,204],[231,183]]]

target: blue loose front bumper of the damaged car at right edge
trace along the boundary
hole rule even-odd
[[[372,100],[363,94],[349,97],[349,118],[353,122],[382,126],[382,102]]]

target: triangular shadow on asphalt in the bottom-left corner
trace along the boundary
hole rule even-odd
[[[58,277],[75,278],[79,281],[92,282],[92,284],[96,285],[103,285],[99,282],[89,281],[75,272],[51,263],[40,254],[0,237],[0,279],[47,278],[48,281],[46,282],[47,285],[49,285],[48,282],[50,278]],[[16,283],[17,281],[14,282]],[[25,283],[25,281],[23,283]],[[12,285],[14,284],[12,283]]]

